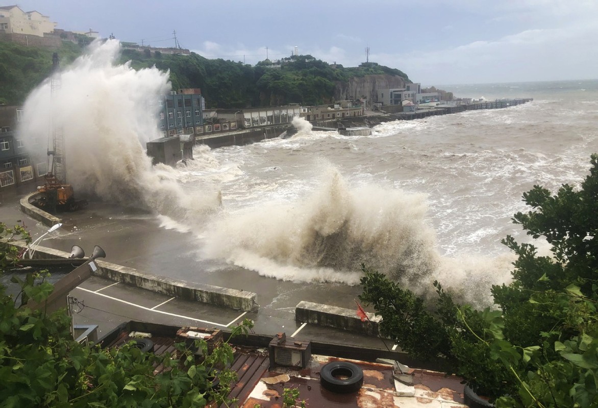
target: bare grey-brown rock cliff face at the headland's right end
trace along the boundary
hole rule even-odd
[[[389,88],[404,88],[405,80],[396,75],[365,75],[361,78],[353,77],[349,82],[337,82],[334,90],[334,100],[351,100],[366,97],[368,105],[378,102],[379,90]]]

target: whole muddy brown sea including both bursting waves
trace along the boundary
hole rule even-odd
[[[511,277],[505,237],[550,254],[512,222],[531,209],[523,193],[579,186],[598,152],[598,80],[588,79],[439,84],[455,97],[533,101],[385,122],[370,136],[295,119],[288,139],[197,145],[185,164],[152,166],[145,142],[159,135],[147,99],[168,78],[115,65],[117,55],[115,41],[97,45],[63,70],[59,91],[33,91],[25,112],[36,116],[22,132],[42,137],[58,123],[76,191],[146,208],[158,228],[191,236],[190,262],[212,274],[233,268],[333,294],[358,286],[364,265],[423,296],[438,280],[488,305],[490,287]]]

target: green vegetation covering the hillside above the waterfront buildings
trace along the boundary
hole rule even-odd
[[[64,42],[59,50],[25,47],[0,42],[0,103],[22,105],[27,94],[50,75],[51,54],[57,51],[66,66],[83,48]],[[208,108],[249,108],[257,106],[319,105],[334,101],[338,82],[373,74],[399,76],[411,82],[405,73],[377,63],[362,63],[355,68],[333,66],[312,56],[292,56],[280,68],[269,68],[265,60],[255,66],[222,59],[123,50],[120,63],[131,62],[134,69],[156,66],[170,70],[172,89],[201,88]]]

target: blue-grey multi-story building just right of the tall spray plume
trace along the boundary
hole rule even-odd
[[[199,88],[179,89],[158,100],[158,127],[163,137],[203,132],[206,102]]]

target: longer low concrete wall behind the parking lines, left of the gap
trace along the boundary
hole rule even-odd
[[[16,246],[25,247],[24,244],[14,243]],[[67,258],[69,253],[47,247],[36,247],[33,258]],[[97,260],[97,271],[94,275],[109,280],[175,296],[179,299],[192,302],[209,303],[210,305],[225,306],[231,309],[253,311],[258,308],[255,302],[257,296],[254,292],[246,292],[225,287],[205,285],[200,283],[175,280],[153,274],[146,274],[137,269],[116,265],[115,263]]]

